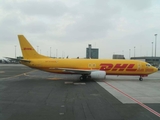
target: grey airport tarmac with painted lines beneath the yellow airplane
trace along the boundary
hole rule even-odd
[[[0,120],[159,120],[160,71],[79,81],[26,66],[0,64]]]

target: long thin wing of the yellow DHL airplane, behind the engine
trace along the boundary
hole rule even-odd
[[[63,70],[64,72],[73,73],[73,74],[91,74],[95,70],[84,70],[84,69],[70,69],[70,68],[50,68],[54,70]]]

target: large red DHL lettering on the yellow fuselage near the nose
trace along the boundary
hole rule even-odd
[[[111,64],[111,63],[102,63],[100,64],[100,70],[103,71],[136,71],[133,67],[135,64]]]

